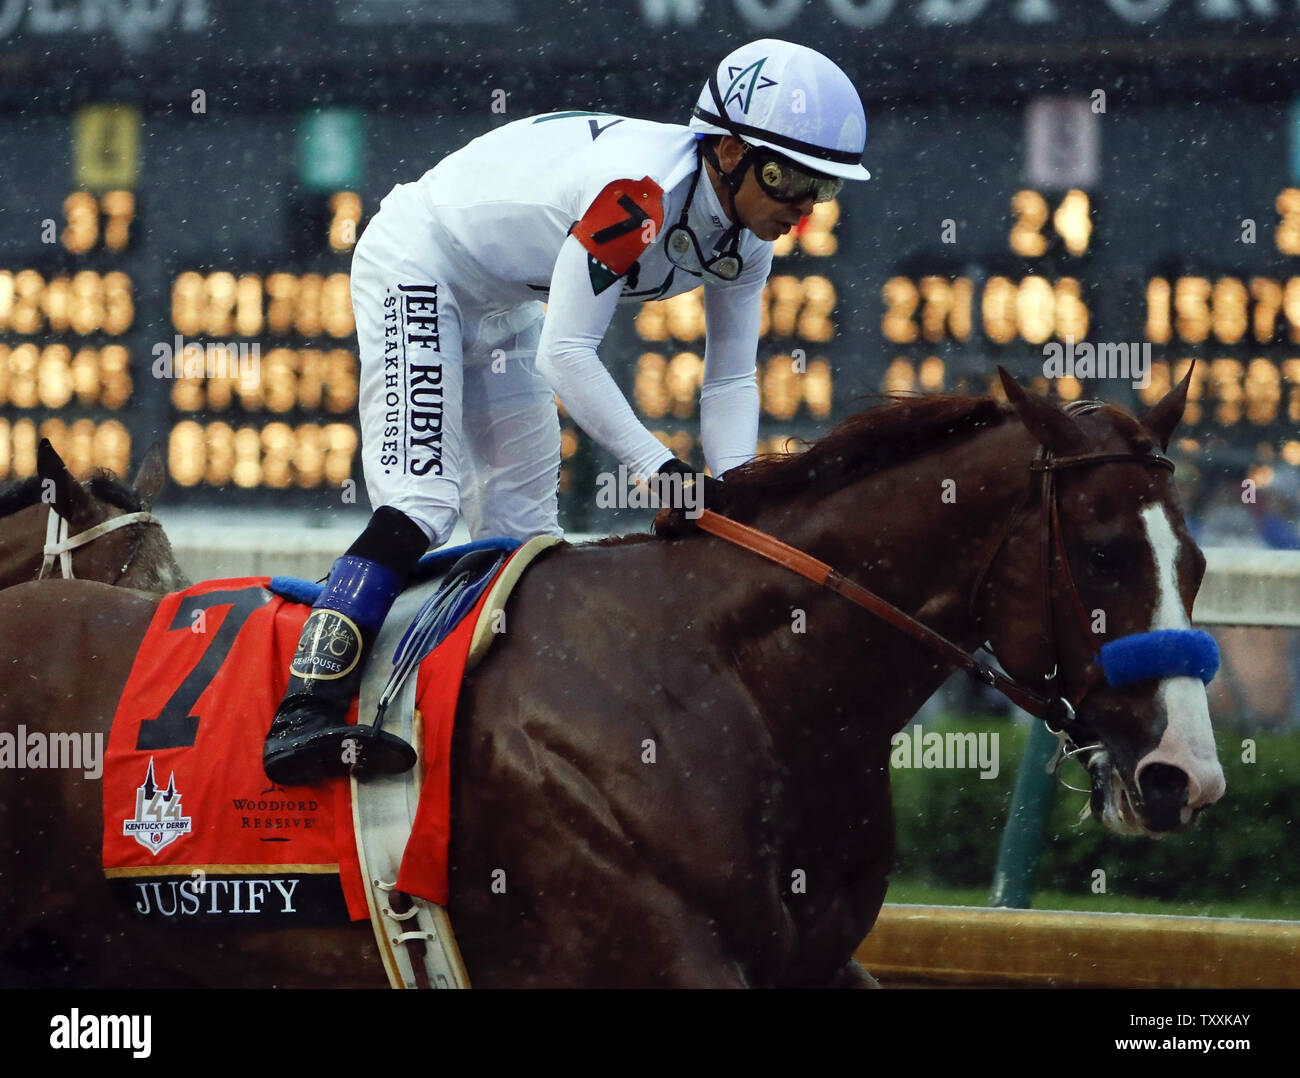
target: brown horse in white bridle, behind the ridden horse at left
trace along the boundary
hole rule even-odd
[[[44,560],[51,511],[68,521],[68,537],[75,542],[78,536],[110,520],[148,514],[165,480],[162,451],[153,446],[144,454],[130,486],[108,472],[98,472],[81,484],[53,446],[42,440],[36,475],[0,492],[0,588],[36,579]],[[124,521],[69,553],[73,576],[81,580],[101,580],[159,596],[188,583],[157,521]],[[61,559],[55,559],[52,573],[62,573]]]

